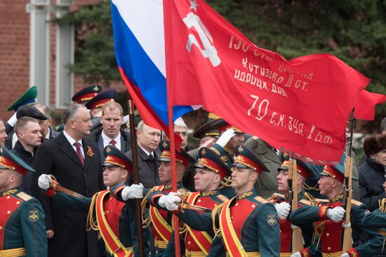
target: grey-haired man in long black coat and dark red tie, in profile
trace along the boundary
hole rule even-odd
[[[52,174],[69,190],[92,197],[105,188],[98,147],[84,139],[90,134],[90,113],[74,104],[63,113],[65,129],[55,139],[44,142],[34,158],[36,174],[32,177],[32,195],[46,213],[48,256],[98,256],[95,232],[86,232],[86,214],[67,211],[41,193],[37,180]]]

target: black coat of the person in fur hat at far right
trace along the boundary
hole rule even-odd
[[[385,169],[370,157],[358,167],[359,172],[359,199],[366,204],[367,209],[373,211],[378,209],[379,202],[385,198]]]

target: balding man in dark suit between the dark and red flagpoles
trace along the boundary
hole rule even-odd
[[[159,185],[159,163],[156,150],[161,140],[161,130],[149,127],[141,120],[138,123],[136,134],[140,183],[145,188],[152,188]],[[128,151],[126,155],[130,160],[133,160],[132,151]]]

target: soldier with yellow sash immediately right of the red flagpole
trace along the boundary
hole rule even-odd
[[[210,148],[200,148],[199,156],[196,162],[196,174],[194,175],[194,186],[198,192],[186,193],[182,195],[182,207],[178,211],[178,205],[168,204],[168,210],[180,218],[182,223],[182,238],[181,245],[185,245],[185,256],[207,256],[211,250],[211,244],[214,237],[213,228],[211,225],[206,225],[207,221],[202,221],[200,215],[204,211],[213,210],[218,204],[229,200],[225,195],[221,195],[218,190],[220,182],[229,174],[230,170],[225,165],[220,157],[211,151]],[[169,194],[171,199],[166,202],[181,202],[181,199],[175,195]],[[186,209],[185,209],[186,207]],[[189,209],[193,207],[193,210]],[[204,207],[203,209],[195,209],[195,207]],[[197,211],[199,211],[197,213]],[[210,217],[210,216],[209,216]],[[174,235],[174,233],[173,233]],[[174,241],[173,237],[166,249],[167,256],[173,256]]]

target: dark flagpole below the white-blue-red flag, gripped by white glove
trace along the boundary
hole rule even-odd
[[[134,102],[131,99],[131,95],[128,94],[128,118],[130,123],[131,153],[133,159],[133,181],[135,184],[139,184],[140,174],[138,173],[138,153],[137,138],[135,137],[134,108]],[[141,201],[141,199],[135,199],[135,223],[137,225],[138,253],[140,257],[144,257]]]

